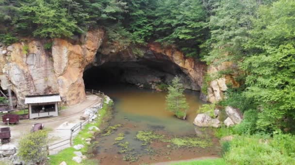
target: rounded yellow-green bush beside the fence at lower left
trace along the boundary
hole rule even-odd
[[[47,158],[46,149],[48,133],[44,130],[29,133],[22,137],[19,142],[18,155],[25,162],[43,162]]]

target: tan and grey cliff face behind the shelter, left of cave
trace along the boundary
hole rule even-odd
[[[60,93],[67,105],[85,98],[83,70],[90,64],[104,38],[103,30],[89,31],[81,44],[69,40],[31,40],[0,47],[0,83],[10,84],[18,105],[27,95]],[[50,50],[45,43],[52,42]]]

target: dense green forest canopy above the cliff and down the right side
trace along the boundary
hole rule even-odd
[[[233,61],[222,74],[239,71],[242,85],[218,104],[245,112],[238,132],[294,130],[294,0],[0,0],[4,44],[98,27],[130,47],[158,41],[208,65]]]

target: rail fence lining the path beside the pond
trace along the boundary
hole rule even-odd
[[[101,105],[101,106],[103,106],[104,98],[105,98],[105,95],[104,95],[103,92],[95,91],[95,90],[87,90],[87,89],[86,89],[85,91],[86,91],[87,93],[92,94],[92,95],[97,95],[97,96],[102,97],[102,102],[101,102],[102,105]],[[68,144],[69,144],[70,146],[72,146],[72,145],[73,145],[73,138],[74,138],[73,134],[74,134],[76,131],[78,131],[78,130],[82,130],[83,126],[84,126],[85,124],[89,123],[89,121],[92,120],[92,118],[93,118],[94,115],[95,115],[95,114],[92,114],[91,116],[89,116],[89,117],[88,117],[86,120],[84,120],[83,122],[80,122],[79,124],[74,125],[74,126],[70,129],[70,138],[65,139],[65,140],[62,140],[62,141],[59,141],[59,142],[56,142],[56,143],[53,143],[53,144],[50,144],[50,145],[47,145],[47,146],[43,147],[43,149],[46,149],[47,154],[49,155],[49,151],[51,151],[51,150],[54,150],[54,149],[57,149],[57,148],[63,147],[63,146],[68,145]],[[68,142],[67,142],[67,143],[64,143],[64,144],[61,144],[61,143],[65,142],[65,141],[68,141]],[[55,147],[55,145],[57,145],[57,144],[61,144],[61,145]],[[54,146],[54,147],[53,147],[53,148],[50,148],[50,147],[52,147],[52,146]],[[0,151],[14,151],[14,153],[16,153],[17,149],[14,148],[13,150],[0,150]]]

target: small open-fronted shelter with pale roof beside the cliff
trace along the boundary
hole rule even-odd
[[[59,94],[26,96],[25,104],[29,107],[29,118],[58,116]]]

